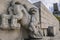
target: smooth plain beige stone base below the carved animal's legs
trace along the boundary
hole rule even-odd
[[[0,30],[0,39],[1,40],[17,40],[19,37],[19,30],[16,31],[8,31],[8,30]]]

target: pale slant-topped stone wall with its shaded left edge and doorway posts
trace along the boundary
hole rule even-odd
[[[34,5],[40,10],[42,35],[47,35],[47,28],[49,26],[53,27],[53,33],[56,35],[59,32],[59,21],[57,18],[45,7],[42,2],[36,2]]]

